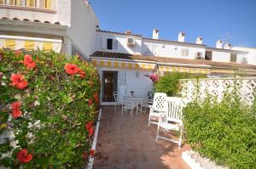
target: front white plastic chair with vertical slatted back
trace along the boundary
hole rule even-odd
[[[185,100],[177,97],[167,97],[166,98],[166,112],[161,115],[160,121],[158,123],[155,141],[158,138],[171,141],[178,144],[178,149],[181,148],[182,136],[183,136],[183,107],[185,106]],[[165,138],[160,136],[160,128],[165,129],[165,131],[179,131],[179,139],[174,140],[171,138]]]

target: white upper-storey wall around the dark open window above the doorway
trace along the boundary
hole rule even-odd
[[[132,37],[135,39],[134,46],[127,45],[127,38]],[[113,38],[118,41],[118,49],[108,50],[106,47],[102,48],[102,41],[106,41],[108,38]],[[97,31],[96,33],[96,49],[98,51],[106,51],[113,53],[125,53],[125,54],[141,54],[142,38],[130,35],[119,35],[108,32]]]

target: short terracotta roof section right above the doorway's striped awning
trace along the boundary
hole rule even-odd
[[[145,60],[145,61],[156,61],[149,56],[143,56],[139,54],[123,54],[123,53],[109,53],[109,52],[101,52],[97,51],[94,54],[90,55],[91,57],[97,58],[108,58],[108,59],[137,59],[137,60]]]

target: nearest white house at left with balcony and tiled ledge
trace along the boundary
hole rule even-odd
[[[0,48],[53,49],[89,60],[97,25],[88,1],[0,1]]]

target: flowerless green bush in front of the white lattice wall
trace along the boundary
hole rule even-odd
[[[230,90],[231,89],[231,90]],[[230,168],[256,167],[255,105],[239,99],[237,88],[227,88],[223,100],[208,94],[183,110],[186,138],[193,149]]]

